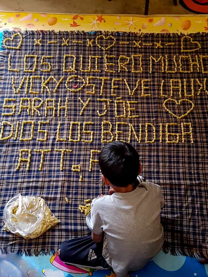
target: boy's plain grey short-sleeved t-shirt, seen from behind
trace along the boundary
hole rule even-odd
[[[92,201],[86,223],[95,234],[105,232],[103,256],[117,277],[141,269],[160,251],[163,205],[160,186],[150,182],[140,183],[131,192],[116,192]]]

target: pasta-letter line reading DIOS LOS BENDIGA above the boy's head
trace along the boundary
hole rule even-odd
[[[17,121],[16,125],[8,121],[1,123],[0,140],[19,140],[19,141],[47,141],[52,139],[48,135],[50,121]],[[38,125],[37,127],[35,127]],[[69,126],[69,128],[68,128]],[[54,126],[53,126],[54,127]],[[82,131],[81,131],[82,127]],[[193,143],[193,131],[191,123],[160,123],[157,126],[152,123],[132,124],[122,121],[115,122],[102,121],[101,126],[95,126],[94,122],[70,121],[67,126],[62,126],[59,121],[55,126],[56,141],[69,141],[73,143],[92,143],[97,141],[100,136],[101,143],[110,143],[113,140],[131,143],[136,140],[138,143],[185,143],[185,136],[190,137]],[[94,131],[94,130],[96,131]],[[173,132],[174,131],[174,132]],[[54,137],[54,132],[52,136]],[[180,132],[180,134],[179,134]],[[171,139],[171,138],[172,139]]]

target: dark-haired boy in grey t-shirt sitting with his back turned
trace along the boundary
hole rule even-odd
[[[113,269],[117,277],[144,267],[163,246],[160,186],[146,182],[139,155],[128,143],[105,145],[99,157],[109,195],[92,201],[86,223],[91,236],[60,245],[59,258],[70,265]]]

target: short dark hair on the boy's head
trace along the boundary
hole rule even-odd
[[[100,170],[112,185],[133,184],[139,172],[139,155],[129,143],[115,141],[106,144],[99,156]]]

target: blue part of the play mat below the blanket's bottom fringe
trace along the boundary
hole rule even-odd
[[[51,257],[20,257],[15,254],[0,256],[0,276],[2,277],[115,277],[109,270],[88,271],[87,269],[63,264]],[[160,252],[153,261],[142,270],[135,271],[130,277],[207,277],[208,265],[200,264],[196,259],[183,256],[171,256]]]

